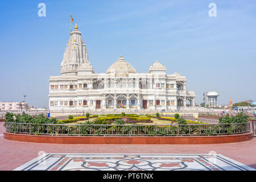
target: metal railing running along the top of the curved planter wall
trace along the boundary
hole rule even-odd
[[[198,125],[58,125],[6,122],[5,127],[9,133],[75,136],[198,136],[243,134],[251,131],[249,122]]]

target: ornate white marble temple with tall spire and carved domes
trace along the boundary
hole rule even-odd
[[[49,78],[51,112],[90,111],[176,111],[186,101],[195,106],[195,93],[186,89],[186,78],[166,74],[155,61],[147,73],[136,69],[122,56],[106,73],[95,73],[77,25],[61,63],[61,75]]]

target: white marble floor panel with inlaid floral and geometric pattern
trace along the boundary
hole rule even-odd
[[[255,171],[221,154],[43,154],[16,171]]]

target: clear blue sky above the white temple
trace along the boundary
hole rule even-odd
[[[38,4],[46,4],[46,17]],[[217,17],[209,17],[209,3]],[[48,106],[49,76],[60,75],[73,16],[96,73],[120,55],[137,72],[158,60],[167,73],[187,77],[203,102],[218,91],[219,104],[255,98],[255,1],[1,1],[0,101]]]

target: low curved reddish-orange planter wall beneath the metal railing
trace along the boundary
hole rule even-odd
[[[243,142],[253,139],[253,133],[199,137],[77,137],[3,133],[9,140],[57,144],[214,144]]]

